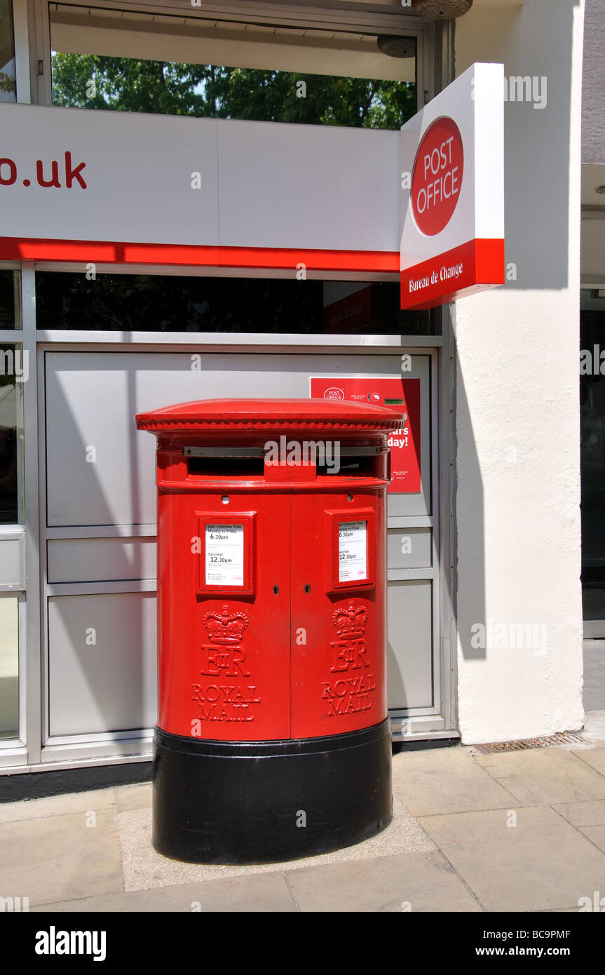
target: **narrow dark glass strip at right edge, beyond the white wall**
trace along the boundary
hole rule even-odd
[[[582,594],[584,618],[605,620],[605,298],[582,292]]]

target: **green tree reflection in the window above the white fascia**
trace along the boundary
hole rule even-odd
[[[53,102],[71,108],[391,130],[400,129],[417,110],[414,82],[57,53]]]

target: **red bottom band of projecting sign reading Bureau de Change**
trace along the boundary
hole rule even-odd
[[[504,280],[504,240],[476,238],[401,271],[401,308],[435,308]]]

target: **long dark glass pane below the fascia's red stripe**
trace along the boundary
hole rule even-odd
[[[36,275],[38,329],[431,334],[397,282],[103,274]]]

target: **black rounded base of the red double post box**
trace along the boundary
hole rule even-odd
[[[190,863],[276,863],[328,853],[389,825],[389,719],[361,731],[219,742],[156,727],[153,843]]]

